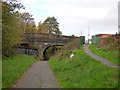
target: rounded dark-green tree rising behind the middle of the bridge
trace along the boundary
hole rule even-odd
[[[59,23],[57,22],[57,19],[55,17],[48,17],[43,24],[46,27],[46,30],[48,31],[49,34],[62,34],[59,31]]]

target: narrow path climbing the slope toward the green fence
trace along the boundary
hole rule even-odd
[[[100,56],[97,56],[97,55],[93,54],[93,53],[89,50],[88,47],[89,47],[88,45],[86,45],[85,47],[83,47],[83,50],[84,50],[85,53],[87,53],[87,55],[89,55],[90,57],[92,57],[92,58],[95,59],[95,60],[98,60],[98,61],[102,62],[103,64],[106,64],[106,65],[108,65],[108,66],[110,66],[110,67],[118,68],[118,69],[120,70],[120,67],[118,67],[116,64],[110,62],[110,61],[107,60],[107,59],[104,59],[104,58],[102,58],[102,57],[100,57]]]

